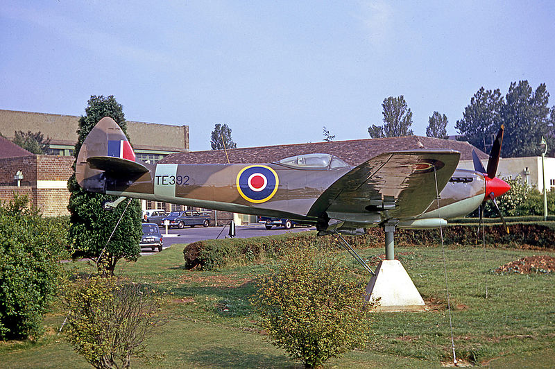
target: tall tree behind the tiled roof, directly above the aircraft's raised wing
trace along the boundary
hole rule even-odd
[[[373,124],[368,127],[368,134],[372,138],[412,136],[412,112],[404,101],[404,96],[384,98],[384,125]]]

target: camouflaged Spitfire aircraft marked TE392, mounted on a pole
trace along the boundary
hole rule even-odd
[[[354,167],[318,153],[266,164],[148,164],[105,117],[83,142],[76,179],[101,194],[313,223],[319,234],[438,228],[509,191],[495,178],[502,138],[503,128],[487,171],[475,153],[469,171],[456,169],[460,153],[425,149],[382,153]]]

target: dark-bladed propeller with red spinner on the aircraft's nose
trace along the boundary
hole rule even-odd
[[[509,233],[509,227],[507,227],[505,223],[505,219],[503,218],[503,214],[499,210],[497,206],[497,201],[495,198],[505,194],[511,186],[504,180],[501,180],[495,177],[497,173],[497,165],[499,164],[499,155],[501,153],[501,146],[503,144],[503,132],[505,127],[501,125],[499,128],[499,132],[497,132],[497,137],[495,137],[495,141],[493,142],[493,146],[490,152],[490,158],[488,160],[488,170],[484,169],[484,166],[481,164],[478,155],[474,150],[472,150],[472,162],[474,163],[474,170],[480,173],[484,173],[484,178],[486,179],[486,196],[484,196],[484,203],[480,205],[480,221],[481,217],[484,214],[484,205],[487,200],[492,200],[493,205],[495,205],[495,209],[497,210],[497,214],[499,214],[499,218],[503,222],[503,227],[505,228],[506,232]]]

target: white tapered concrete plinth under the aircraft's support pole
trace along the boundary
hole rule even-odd
[[[426,304],[399,260],[383,260],[366,286],[370,299],[380,298],[377,311],[422,311]]]

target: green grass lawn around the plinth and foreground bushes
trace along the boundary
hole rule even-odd
[[[148,282],[166,293],[167,324],[157,328],[148,348],[160,359],[135,367],[302,368],[266,340],[248,297],[264,266],[187,271],[182,245],[120,262],[117,273]],[[358,250],[366,259],[382,248]],[[441,248],[397,248],[402,264],[427,302],[420,313],[376,313],[373,339],[364,350],[345,354],[327,368],[440,367],[452,361]],[[459,247],[445,250],[457,357],[494,368],[555,367],[555,275],[497,275],[493,269],[520,257],[553,253]],[[345,263],[364,275],[345,252]],[[86,272],[90,267],[76,263]],[[368,277],[369,280],[369,277]],[[486,283],[488,298],[486,298]],[[3,368],[89,368],[62,336],[61,311],[45,318],[37,343],[0,343]]]

